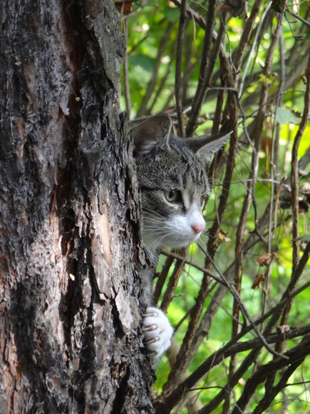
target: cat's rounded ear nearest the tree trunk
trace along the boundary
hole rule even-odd
[[[169,147],[169,137],[172,127],[172,121],[164,113],[148,118],[131,132],[134,144],[135,156],[149,153],[153,148]]]

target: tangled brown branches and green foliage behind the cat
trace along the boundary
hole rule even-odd
[[[305,1],[261,0],[122,15],[133,122],[166,112],[178,134],[233,131],[209,168],[206,234],[157,269],[176,341],[157,369],[160,413],[310,412],[307,17]]]

